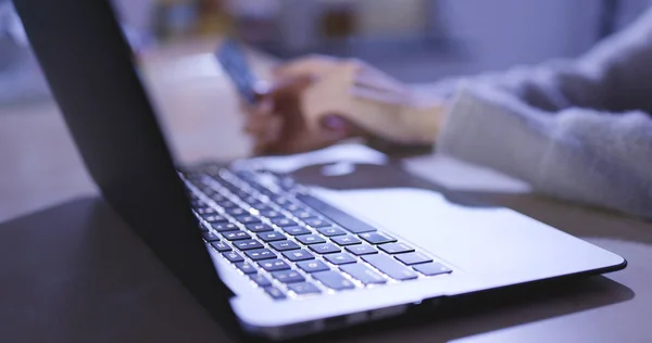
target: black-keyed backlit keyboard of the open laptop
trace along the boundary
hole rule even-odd
[[[204,240],[274,300],[378,287],[452,272],[406,242],[297,196],[249,172],[184,175]],[[311,206],[313,203],[314,206]]]

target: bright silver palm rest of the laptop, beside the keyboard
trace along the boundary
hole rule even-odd
[[[311,190],[459,269],[497,281],[525,281],[614,263],[612,254],[509,208],[460,205],[436,191],[415,188]]]

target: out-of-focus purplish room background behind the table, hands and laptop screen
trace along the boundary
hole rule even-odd
[[[647,0],[113,0],[135,48],[230,34],[278,58],[358,56],[414,82],[575,56]],[[10,86],[11,85],[11,86]],[[47,97],[0,0],[0,104]]]

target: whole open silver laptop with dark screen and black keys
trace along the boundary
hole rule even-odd
[[[177,166],[108,1],[15,7],[108,203],[243,336],[299,338],[626,266],[516,212],[435,190],[314,187],[247,161]]]

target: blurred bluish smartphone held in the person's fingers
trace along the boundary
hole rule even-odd
[[[255,85],[259,80],[251,69],[240,43],[233,38],[227,38],[220,46],[215,55],[240,97],[253,104],[256,100]]]

